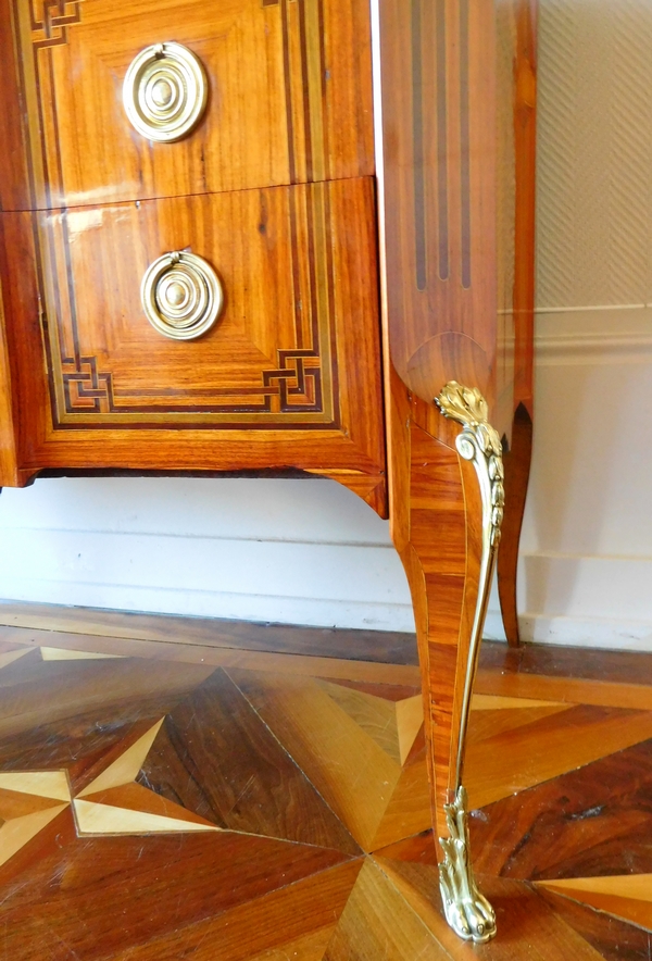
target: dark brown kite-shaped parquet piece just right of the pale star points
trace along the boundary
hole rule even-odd
[[[223,671],[168,714],[140,766],[141,784],[214,824],[360,852]]]

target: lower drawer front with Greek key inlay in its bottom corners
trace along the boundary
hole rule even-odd
[[[159,432],[148,457],[171,469],[267,466],[271,458],[318,466],[319,445],[331,449],[331,466],[380,469],[371,178],[4,213],[2,222],[5,323],[30,463],[73,465],[75,444],[87,451],[100,437],[103,463],[133,462],[140,430]],[[220,315],[196,339],[165,336],[143,309],[143,276],[173,251],[174,270],[191,253],[220,283]],[[165,260],[150,285],[163,313],[179,292],[171,270]],[[223,441],[209,455],[210,432]],[[235,440],[246,445],[243,462],[231,464]]]

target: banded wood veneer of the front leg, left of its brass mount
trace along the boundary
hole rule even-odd
[[[391,533],[415,608],[439,837],[446,832],[443,804],[454,787],[461,696],[477,597],[481,509],[473,467],[435,437],[432,423],[439,414],[410,399],[398,377],[390,378],[390,388]],[[454,430],[447,429],[454,437]]]

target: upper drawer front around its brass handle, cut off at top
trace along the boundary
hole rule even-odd
[[[0,136],[9,146],[0,158],[2,208],[373,173],[367,5],[0,0]],[[199,58],[208,100],[190,134],[154,142],[130,124],[123,84],[140,51],[171,42]]]

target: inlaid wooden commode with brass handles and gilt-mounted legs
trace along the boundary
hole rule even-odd
[[[497,556],[517,639],[531,0],[0,11],[2,484],[300,469],[389,514],[444,910],[487,940],[462,777]]]

